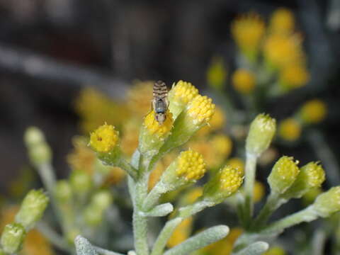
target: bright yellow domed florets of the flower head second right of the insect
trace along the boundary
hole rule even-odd
[[[194,124],[208,123],[215,113],[215,104],[208,96],[196,96],[187,106],[188,115],[194,120]]]

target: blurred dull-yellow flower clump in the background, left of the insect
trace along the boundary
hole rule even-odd
[[[104,121],[110,125],[120,125],[129,113],[122,103],[93,88],[81,90],[75,101],[75,110],[81,117],[81,130],[88,134]]]

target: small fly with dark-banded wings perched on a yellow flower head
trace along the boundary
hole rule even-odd
[[[156,81],[154,83],[154,99],[152,100],[152,108],[154,109],[154,118],[162,125],[166,119],[166,110],[169,107],[168,89],[164,81]]]

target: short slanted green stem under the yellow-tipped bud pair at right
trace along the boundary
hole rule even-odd
[[[261,212],[256,219],[251,223],[251,229],[259,229],[267,222],[269,217],[280,207],[283,203],[287,202],[286,199],[280,198],[276,192],[271,192],[268,196],[266,204],[263,206]]]

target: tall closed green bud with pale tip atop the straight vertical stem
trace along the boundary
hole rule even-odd
[[[259,114],[250,125],[246,137],[246,152],[259,157],[268,149],[276,132],[276,120],[268,114]]]

